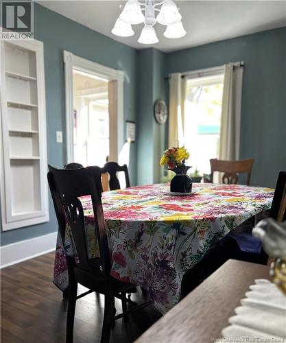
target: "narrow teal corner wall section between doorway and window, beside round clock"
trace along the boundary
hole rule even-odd
[[[154,104],[165,99],[165,55],[156,49],[137,52],[137,182],[146,185],[160,182],[163,168],[160,154],[165,149],[165,124],[154,119]]]

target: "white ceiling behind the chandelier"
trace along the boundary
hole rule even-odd
[[[162,51],[195,47],[286,25],[286,1],[175,1],[180,8],[187,35],[179,39],[165,38],[165,27],[157,23],[155,29],[159,43],[152,47]],[[132,37],[120,38],[111,34],[110,31],[119,16],[119,5],[124,5],[126,1],[37,2],[130,47],[150,47],[137,42],[142,24],[132,25],[135,32]]]

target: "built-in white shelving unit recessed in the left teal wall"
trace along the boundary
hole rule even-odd
[[[3,230],[49,220],[43,43],[1,42]]]

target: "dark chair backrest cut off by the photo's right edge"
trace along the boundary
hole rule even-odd
[[[286,171],[280,171],[274,191],[270,217],[277,222],[286,220]]]

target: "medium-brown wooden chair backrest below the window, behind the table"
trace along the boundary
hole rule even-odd
[[[252,165],[254,163],[254,159],[250,158],[249,160],[241,160],[241,161],[223,161],[218,160],[217,158],[212,158],[210,160],[211,163],[211,182],[213,182],[213,172],[214,171],[221,171],[224,173],[222,176],[222,182],[226,184],[237,184],[239,173],[247,173],[247,181],[246,185],[250,185],[250,176]]]

